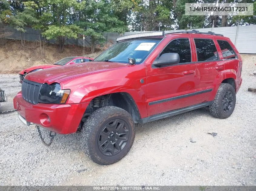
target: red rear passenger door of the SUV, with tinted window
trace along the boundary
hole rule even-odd
[[[217,86],[222,81],[224,71],[224,62],[221,62],[217,48],[216,40],[212,35],[205,38],[193,38],[196,49],[196,91],[198,94],[198,103],[212,101]]]

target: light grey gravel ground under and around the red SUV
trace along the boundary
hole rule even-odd
[[[9,103],[0,107],[0,185],[256,185],[256,94],[247,91],[256,85],[249,76],[254,63],[256,56],[243,55],[243,83],[231,117],[216,119],[198,109],[136,125],[130,152],[108,166],[85,156],[79,134],[57,135],[46,147],[17,112],[1,113],[2,105],[12,109],[21,89],[17,75],[2,75]]]

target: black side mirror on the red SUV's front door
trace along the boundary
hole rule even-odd
[[[180,62],[180,56],[178,53],[165,53],[162,54],[159,59],[153,62],[154,66],[164,66],[164,65],[172,65],[178,64]]]

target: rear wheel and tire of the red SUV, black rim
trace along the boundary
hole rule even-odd
[[[234,111],[236,94],[232,85],[222,83],[215,95],[212,104],[209,106],[211,115],[220,119],[226,119]]]

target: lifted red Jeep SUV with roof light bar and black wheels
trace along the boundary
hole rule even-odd
[[[229,38],[186,31],[117,41],[92,62],[26,75],[13,100],[22,122],[51,136],[80,132],[88,156],[112,164],[130,150],[134,123],[201,107],[220,119],[233,113],[242,59]]]

